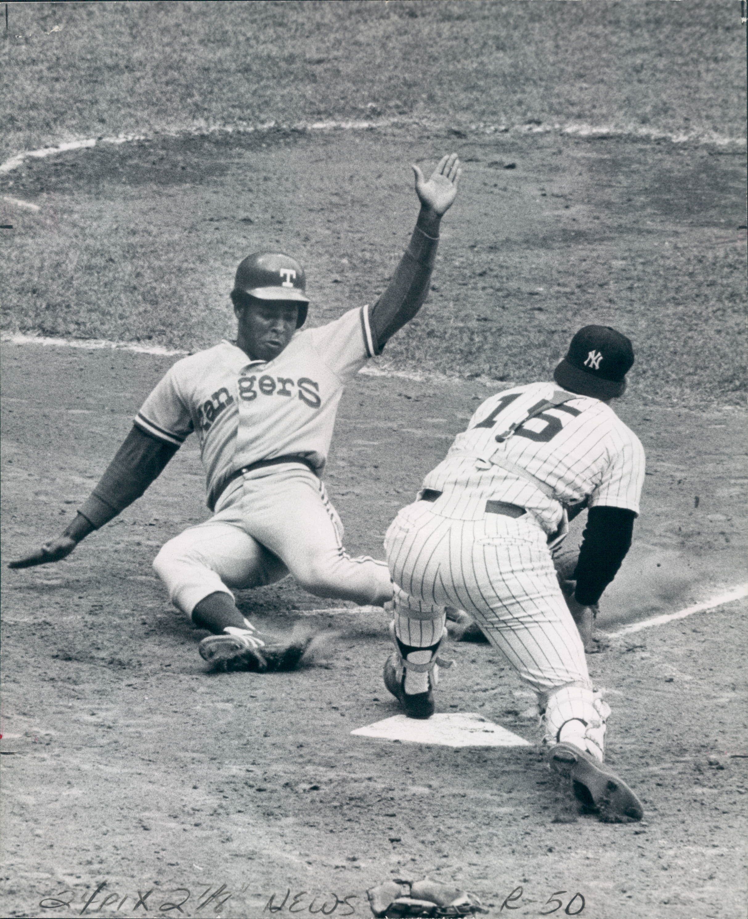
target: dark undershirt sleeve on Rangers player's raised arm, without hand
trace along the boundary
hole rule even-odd
[[[409,323],[426,299],[436,259],[438,238],[415,227],[411,242],[391,281],[369,314],[377,354],[392,335]]]

